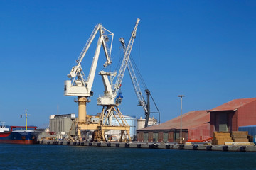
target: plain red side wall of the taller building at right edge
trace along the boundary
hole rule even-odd
[[[245,106],[238,108],[238,125],[240,126],[255,125],[256,124],[256,101],[252,101]]]

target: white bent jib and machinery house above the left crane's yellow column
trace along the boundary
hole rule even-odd
[[[95,50],[95,55],[92,60],[92,64],[90,67],[90,72],[85,77],[84,72],[82,71],[81,63],[83,58],[85,57],[87,50],[89,49],[92,41],[95,39],[95,36],[99,33],[99,38],[97,40],[97,47]],[[111,37],[111,38],[110,38]],[[85,96],[90,97],[93,95],[92,92],[92,84],[95,78],[95,71],[97,67],[97,62],[100,55],[100,47],[102,46],[105,52],[106,62],[104,67],[107,67],[111,64],[110,56],[112,50],[112,42],[113,42],[114,34],[109,30],[104,28],[102,24],[97,24],[95,28],[92,30],[90,38],[87,40],[85,47],[83,47],[82,52],[80,53],[78,60],[75,60],[77,65],[75,65],[70,73],[68,74],[68,78],[70,80],[66,80],[64,83],[64,95],[65,96]],[[108,45],[110,43],[110,45]]]

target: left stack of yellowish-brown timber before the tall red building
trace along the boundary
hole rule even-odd
[[[225,142],[234,142],[230,132],[213,132],[213,145],[224,145]]]

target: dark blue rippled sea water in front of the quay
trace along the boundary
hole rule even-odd
[[[256,169],[256,153],[0,144],[0,169]]]

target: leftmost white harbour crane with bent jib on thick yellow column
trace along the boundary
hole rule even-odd
[[[97,47],[90,67],[90,72],[86,79],[85,74],[82,71],[81,63],[98,32],[100,33],[100,36],[97,40]],[[109,37],[112,38],[111,41]],[[76,129],[78,131],[79,140],[81,140],[81,130],[95,130],[97,128],[97,123],[90,123],[90,116],[88,116],[86,113],[86,105],[88,102],[90,102],[89,98],[93,96],[92,84],[95,78],[97,61],[100,55],[100,47],[102,45],[104,49],[106,57],[104,67],[107,67],[109,64],[111,64],[110,56],[113,38],[113,33],[104,28],[101,23],[97,24],[92,30],[90,38],[87,40],[85,47],[83,47],[78,60],[76,60],[77,65],[75,65],[68,74],[68,78],[70,78],[70,80],[66,80],[64,83],[65,96],[78,96],[78,100],[75,102],[78,102],[78,122],[76,122]],[[110,47],[107,42],[110,42]]]

